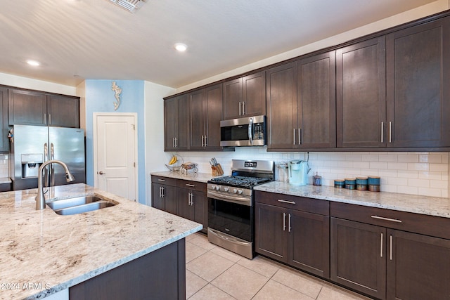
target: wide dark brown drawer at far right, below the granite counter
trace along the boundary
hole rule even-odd
[[[340,202],[330,203],[330,214],[340,219],[450,239],[450,219],[439,216]]]

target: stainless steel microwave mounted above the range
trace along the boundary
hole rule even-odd
[[[220,145],[222,147],[266,145],[266,116],[221,121]]]

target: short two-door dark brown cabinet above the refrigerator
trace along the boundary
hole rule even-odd
[[[9,89],[9,124],[79,128],[79,98]]]

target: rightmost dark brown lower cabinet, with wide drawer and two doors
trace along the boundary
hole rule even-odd
[[[450,299],[450,219],[330,207],[330,280],[375,299]]]

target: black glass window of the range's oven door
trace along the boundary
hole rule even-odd
[[[208,226],[252,242],[252,207],[208,198]]]

